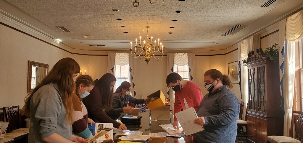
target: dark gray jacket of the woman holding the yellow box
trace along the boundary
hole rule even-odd
[[[128,101],[136,104],[144,102],[144,99],[136,99],[131,95],[125,95],[123,98],[121,92],[115,93],[113,96],[112,108],[106,113],[114,120],[119,119],[119,117],[122,115],[123,107],[127,107]]]

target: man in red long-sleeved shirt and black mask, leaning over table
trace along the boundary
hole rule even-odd
[[[166,85],[175,91],[174,114],[180,112],[181,109],[186,109],[184,98],[189,108],[194,107],[196,111],[199,109],[203,95],[198,84],[183,80],[178,73],[173,72],[166,77]],[[175,129],[179,129],[176,116],[173,126]]]

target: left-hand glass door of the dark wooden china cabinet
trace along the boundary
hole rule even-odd
[[[256,111],[256,68],[248,68],[248,110]]]

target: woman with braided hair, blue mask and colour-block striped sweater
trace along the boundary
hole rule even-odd
[[[89,75],[81,75],[76,79],[76,90],[72,93],[72,102],[74,107],[74,123],[73,134],[82,138],[90,139],[93,137],[92,132],[88,129],[87,109],[82,103],[82,98],[88,96],[89,92],[94,88],[94,81]]]

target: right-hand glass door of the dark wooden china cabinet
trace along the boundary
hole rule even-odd
[[[257,96],[258,108],[257,111],[266,113],[266,67],[265,65],[257,66]]]

